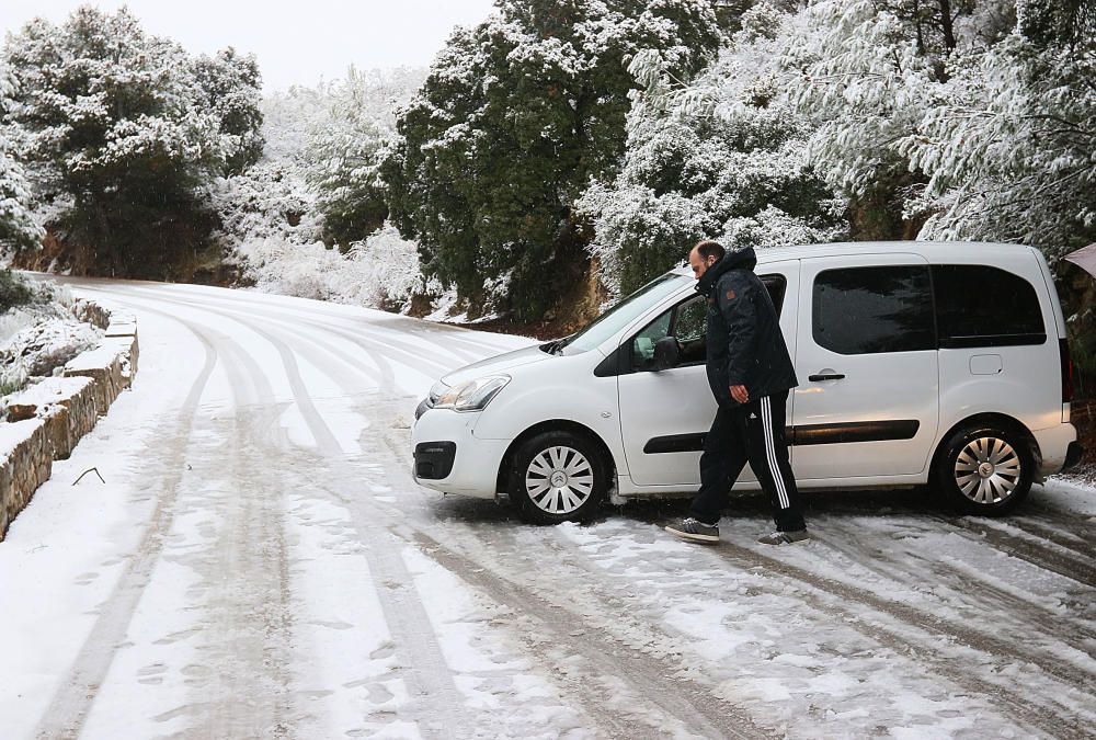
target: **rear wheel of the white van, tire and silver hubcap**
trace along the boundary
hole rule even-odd
[[[1035,457],[1026,440],[993,425],[959,429],[940,448],[935,488],[969,514],[1004,516],[1031,490]]]

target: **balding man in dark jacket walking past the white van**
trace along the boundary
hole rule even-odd
[[[799,385],[776,308],[754,274],[753,249],[726,252],[701,241],[688,255],[696,289],[708,298],[708,385],[718,405],[700,455],[700,490],[689,516],[666,532],[719,542],[719,515],[746,462],[773,501],[776,532],[757,542],[809,539],[784,437],[788,392]]]

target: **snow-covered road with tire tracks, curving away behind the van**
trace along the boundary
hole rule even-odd
[[[77,287],[138,317],[140,373],[0,544],[0,737],[1096,735],[1096,491],[820,494],[790,548],[760,498],[717,548],[672,502],[532,527],[408,449],[438,375],[525,340]]]

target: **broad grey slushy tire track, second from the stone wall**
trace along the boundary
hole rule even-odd
[[[207,497],[208,511],[218,519],[219,536],[201,554],[205,557],[182,558],[186,562],[197,560],[195,569],[204,572],[213,592],[206,597],[212,624],[204,630],[203,647],[216,669],[206,685],[198,686],[203,711],[195,714],[204,721],[189,732],[201,737],[286,738],[293,736],[287,663],[293,613],[285,491],[277,476],[249,458],[259,442],[254,430],[270,429],[277,408],[258,407],[265,376],[253,376],[249,383],[235,364],[258,371],[258,365],[248,362],[247,353],[227,337],[219,335],[216,345],[226,357],[236,401],[233,433],[227,441],[231,480],[243,485],[219,497]],[[273,398],[273,391],[267,398]],[[262,418],[271,412],[273,418]]]

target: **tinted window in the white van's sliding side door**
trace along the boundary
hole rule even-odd
[[[838,354],[936,349],[928,266],[826,270],[814,278],[814,342]]]

